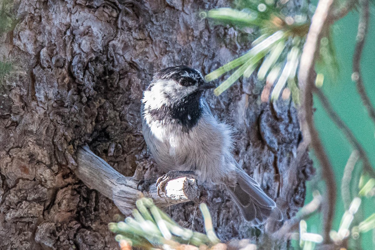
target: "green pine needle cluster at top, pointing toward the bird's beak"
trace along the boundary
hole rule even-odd
[[[282,6],[275,5],[273,0],[235,0],[234,6],[238,9],[218,8],[208,10],[204,16],[217,24],[229,24],[239,28],[258,27],[260,36],[252,42],[253,48],[239,58],[226,63],[209,73],[206,81],[213,81],[225,73],[237,68],[222,84],[214,90],[215,95],[223,93],[234,84],[241,76],[249,77],[258,66],[258,79],[263,81],[272,79],[275,84],[271,93],[271,100],[279,98],[285,87],[291,90],[294,103],[299,103],[299,90],[296,71],[299,66],[304,40],[309,30],[307,14],[284,16]],[[307,12],[307,8],[304,8]],[[272,35],[270,35],[273,33]],[[261,63],[261,59],[263,59]],[[323,37],[320,61],[329,69],[330,75],[337,75],[337,59],[333,48],[332,36]],[[274,79],[275,65],[285,65],[282,73]],[[270,74],[273,75],[268,77]]]

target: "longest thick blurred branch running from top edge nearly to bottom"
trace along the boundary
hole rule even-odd
[[[336,183],[335,175],[331,163],[324,151],[323,145],[319,139],[319,134],[314,125],[312,109],[312,90],[315,84],[314,63],[318,52],[321,36],[324,28],[329,24],[328,13],[333,0],[320,0],[312,17],[309,33],[306,43],[303,47],[301,64],[299,70],[299,86],[301,90],[301,106],[299,109],[300,126],[303,135],[303,141],[310,144],[314,149],[322,166],[322,177],[327,185],[327,197],[324,202],[324,242],[329,243],[329,233],[332,227],[333,217],[335,215],[336,205]]]

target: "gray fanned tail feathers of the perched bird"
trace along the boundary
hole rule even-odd
[[[237,169],[237,182],[226,183],[237,206],[245,218],[254,226],[266,222],[271,215],[276,220],[282,220],[281,211],[276,203],[260,188],[259,184],[242,169]]]

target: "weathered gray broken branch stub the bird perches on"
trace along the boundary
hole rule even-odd
[[[90,189],[95,189],[112,199],[123,214],[130,214],[135,208],[136,200],[141,197],[153,199],[154,204],[159,208],[196,201],[199,197],[198,186],[192,178],[180,177],[169,180],[165,187],[166,192],[162,192],[160,197],[156,185],[150,185],[150,190],[142,192],[137,187],[139,180],[125,177],[117,172],[94,154],[88,145],[79,147],[76,155],[78,167],[74,169],[75,175]]]

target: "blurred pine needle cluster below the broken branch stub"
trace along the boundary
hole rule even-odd
[[[115,240],[124,240],[130,246],[145,249],[162,248],[164,245],[176,248],[180,244],[211,247],[220,243],[213,231],[210,213],[205,204],[201,204],[200,208],[207,234],[182,228],[157,208],[151,199],[139,199],[136,207],[132,213],[133,218],[126,217],[124,222],[108,224],[108,228],[117,234]]]

